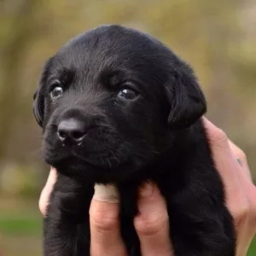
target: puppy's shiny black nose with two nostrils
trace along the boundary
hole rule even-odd
[[[78,144],[86,131],[85,123],[79,119],[64,119],[58,125],[57,135],[62,143]]]

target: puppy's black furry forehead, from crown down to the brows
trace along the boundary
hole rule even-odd
[[[73,38],[52,59],[49,77],[69,78],[69,84],[79,88],[104,84],[102,78],[106,81],[116,74],[119,80],[143,84],[144,90],[159,87],[180,64],[172,50],[155,38],[113,25],[99,26]],[[114,79],[116,76],[110,80],[117,84]]]

